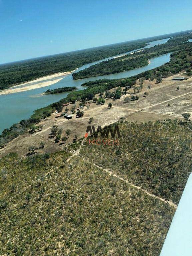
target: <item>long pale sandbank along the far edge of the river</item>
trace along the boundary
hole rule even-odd
[[[73,70],[73,71],[75,71],[75,70]],[[61,72],[61,73],[57,73],[57,74],[53,74],[53,75],[48,75],[48,76],[37,78],[37,79],[32,80],[30,82],[26,82],[26,83],[23,83],[23,84],[15,85],[15,86],[12,86],[12,87],[10,87],[8,89],[0,91],[0,95],[10,94],[10,93],[17,93],[17,92],[24,92],[24,91],[29,91],[29,90],[33,90],[33,89],[37,89],[37,88],[42,88],[42,87],[50,86],[52,84],[55,84],[55,83],[59,82],[61,79],[63,79],[63,76],[69,75],[73,71]],[[58,79],[56,79],[57,77],[58,77]],[[51,81],[43,82],[43,80],[49,80],[49,79],[53,79],[53,78],[55,78],[55,79],[51,80]],[[32,84],[32,83],[36,83],[36,82],[40,82],[40,83]],[[30,85],[30,84],[32,84],[32,85]],[[26,85],[26,86],[23,86],[23,85]]]

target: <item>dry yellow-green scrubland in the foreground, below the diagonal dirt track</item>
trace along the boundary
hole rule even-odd
[[[69,157],[0,161],[0,254],[158,256],[175,208]]]

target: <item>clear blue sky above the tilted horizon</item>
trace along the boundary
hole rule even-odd
[[[0,0],[0,63],[189,29],[191,0]]]

